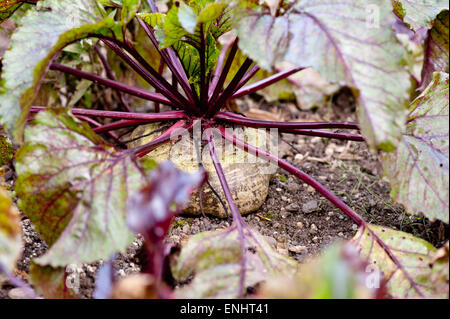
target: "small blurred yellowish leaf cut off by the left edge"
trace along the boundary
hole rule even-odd
[[[7,192],[0,187],[0,264],[12,271],[22,252],[20,215]]]

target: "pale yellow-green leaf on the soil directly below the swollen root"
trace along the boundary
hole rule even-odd
[[[277,274],[293,275],[297,263],[270,247],[251,230],[246,234],[245,287]],[[242,267],[241,242],[236,229],[203,232],[189,238],[172,261],[172,274],[180,282],[192,281],[175,291],[178,298],[237,298]]]

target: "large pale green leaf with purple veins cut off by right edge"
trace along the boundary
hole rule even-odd
[[[447,73],[435,73],[412,103],[407,129],[394,153],[384,156],[392,197],[409,213],[449,222],[449,118]]]

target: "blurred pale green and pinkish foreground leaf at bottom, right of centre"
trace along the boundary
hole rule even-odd
[[[270,278],[258,292],[270,299],[384,298],[382,277],[348,244],[328,247],[320,256],[303,262],[295,276]]]

